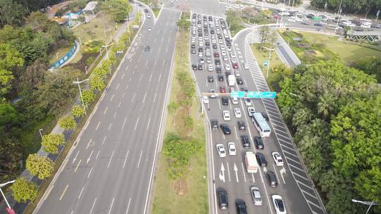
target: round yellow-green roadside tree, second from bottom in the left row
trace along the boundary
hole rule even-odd
[[[30,154],[25,168],[29,170],[30,175],[37,175],[39,179],[44,180],[52,175],[54,162],[48,157],[37,155],[37,153]]]

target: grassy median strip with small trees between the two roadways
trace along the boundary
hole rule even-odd
[[[172,75],[171,85],[171,101],[178,101],[181,94],[181,85],[176,79],[176,74],[180,72],[190,72],[188,58],[188,31],[179,31],[176,39],[176,52],[174,59],[174,74]],[[182,53],[181,53],[182,52]],[[203,119],[199,116],[198,100],[193,99],[190,108],[191,117],[193,118],[193,130],[191,137],[198,141],[204,142],[205,145],[205,126]],[[184,107],[185,108],[185,107]],[[174,115],[168,114],[165,134],[176,133],[181,137],[187,135],[183,129],[183,118],[188,115],[186,109],[181,107]],[[191,165],[186,180],[186,194],[179,196],[174,189],[176,182],[179,180],[169,179],[169,163],[165,156],[160,154],[157,167],[157,176],[155,180],[154,201],[152,205],[152,213],[168,214],[168,213],[208,213],[208,191],[207,191],[207,167],[206,167],[206,151],[205,146],[195,153],[191,158]]]

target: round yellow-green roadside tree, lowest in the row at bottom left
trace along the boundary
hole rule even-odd
[[[32,182],[28,182],[24,177],[18,178],[12,186],[13,198],[18,202],[33,201],[37,196],[37,186]]]

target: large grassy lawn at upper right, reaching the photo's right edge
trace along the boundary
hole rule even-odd
[[[302,32],[298,30],[286,30],[279,32],[286,42],[289,42],[291,49],[305,63],[313,63],[318,60],[341,60],[344,64],[350,65],[353,61],[367,56],[381,57],[381,48],[370,44],[356,44],[348,41],[339,41],[338,37],[316,34],[313,32]],[[294,41],[293,38],[301,38],[301,41]],[[308,44],[303,48],[298,44]],[[313,50],[315,54],[308,54],[306,51]]]

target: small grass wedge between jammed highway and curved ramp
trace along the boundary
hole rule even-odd
[[[267,67],[263,65],[265,60],[269,59],[269,51],[266,49],[263,49],[260,51],[261,44],[251,44],[251,50],[253,51],[253,54],[255,56],[255,59],[258,61],[258,65],[260,65],[260,70],[262,70],[263,76],[266,78],[267,73]],[[270,44],[264,44],[264,46],[270,47]],[[271,59],[270,59],[270,72],[269,72],[269,79],[271,78],[271,69],[276,67],[277,65],[283,64],[280,60],[277,52],[272,51],[271,52]]]

